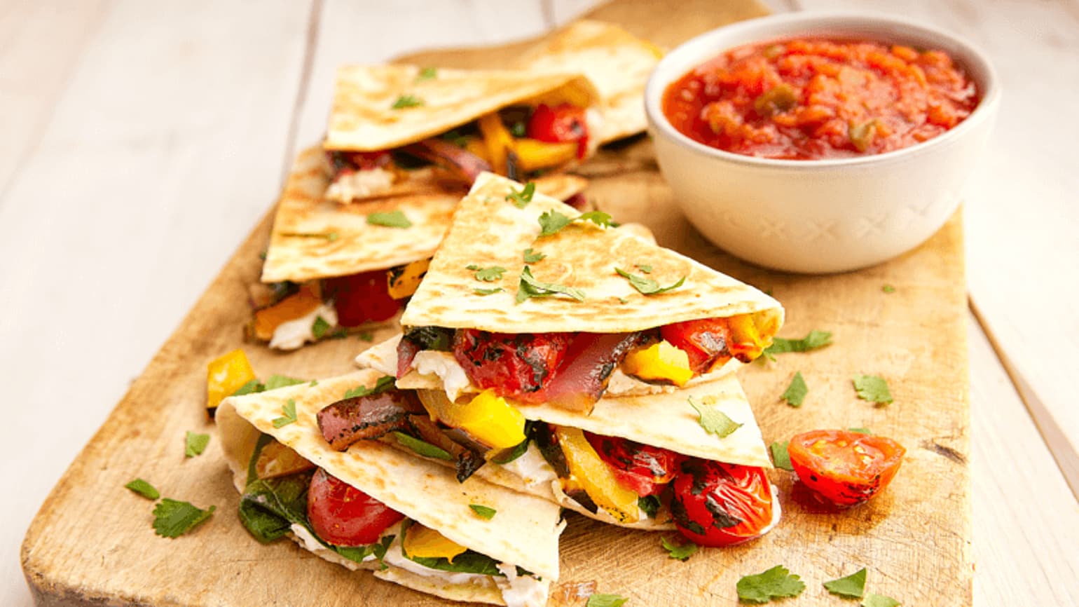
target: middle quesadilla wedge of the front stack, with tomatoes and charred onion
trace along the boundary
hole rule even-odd
[[[394,361],[385,363],[375,370],[393,373]],[[604,397],[587,415],[515,408],[490,391],[453,402],[439,390],[391,389],[388,376],[384,382],[383,392],[319,412],[327,445],[396,436],[391,444],[452,466],[465,485],[478,476],[605,523],[677,527],[705,544],[752,539],[779,520],[768,453],[733,375],[677,394]],[[710,475],[721,497],[701,510]],[[710,532],[716,521],[722,532]]]

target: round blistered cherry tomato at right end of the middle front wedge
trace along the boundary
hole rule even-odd
[[[771,485],[763,468],[691,458],[674,477],[671,516],[701,545],[751,540],[771,523]]]

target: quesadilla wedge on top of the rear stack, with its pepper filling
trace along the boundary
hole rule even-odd
[[[599,145],[598,93],[574,71],[342,66],[324,147],[347,203],[574,165]]]

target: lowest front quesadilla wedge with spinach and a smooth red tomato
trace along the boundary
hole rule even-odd
[[[255,538],[288,536],[350,569],[454,601],[541,607],[558,578],[556,504],[378,442],[329,448],[316,416],[380,374],[226,399],[217,423],[240,517]]]

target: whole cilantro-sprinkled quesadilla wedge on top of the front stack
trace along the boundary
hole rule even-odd
[[[484,174],[457,205],[400,319],[399,388],[588,412],[604,394],[711,381],[770,345],[771,297],[601,212],[522,202],[524,188]]]

